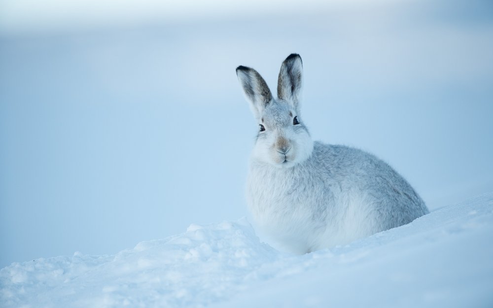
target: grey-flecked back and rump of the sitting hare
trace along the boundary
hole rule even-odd
[[[387,229],[428,213],[412,186],[386,162],[368,152],[315,142],[313,159],[317,169],[323,170],[325,180],[347,192],[347,198],[357,194],[365,199],[365,209],[381,215]]]

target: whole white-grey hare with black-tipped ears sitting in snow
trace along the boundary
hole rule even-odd
[[[256,226],[284,248],[306,253],[428,213],[411,185],[382,160],[312,141],[300,116],[302,70],[297,54],[282,62],[276,99],[256,70],[236,69],[259,124],[246,188]]]

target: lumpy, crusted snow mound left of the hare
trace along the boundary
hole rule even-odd
[[[165,240],[114,256],[14,263],[1,270],[6,307],[184,307],[217,301],[278,252],[259,242],[246,219],[191,225]]]

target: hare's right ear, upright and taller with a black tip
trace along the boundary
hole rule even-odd
[[[303,62],[298,54],[290,54],[281,65],[278,97],[298,109],[303,86]]]

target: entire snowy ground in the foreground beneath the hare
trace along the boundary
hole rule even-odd
[[[493,307],[493,193],[344,247],[281,253],[246,219],[111,256],[13,263],[2,307]]]

